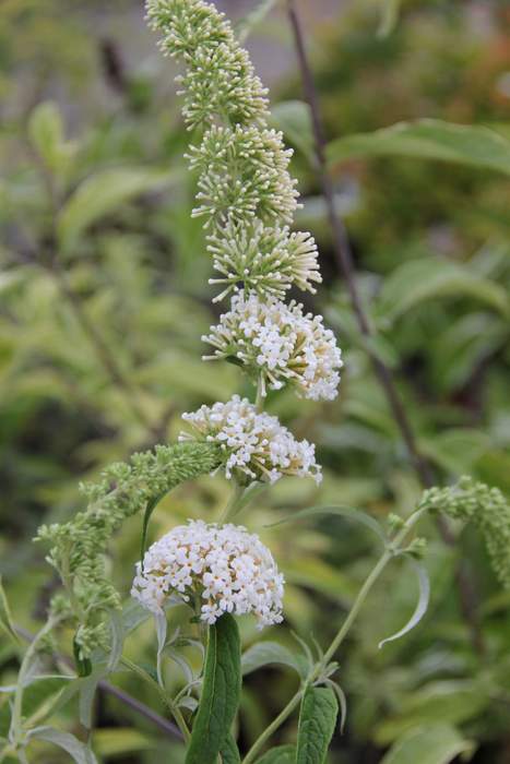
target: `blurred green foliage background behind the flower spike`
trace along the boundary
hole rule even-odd
[[[339,5],[301,9],[329,140],[424,117],[510,135],[506,2],[408,0],[387,35],[381,3]],[[323,288],[306,302],[324,313],[345,356],[334,404],[292,395],[270,402],[297,435],[317,442],[324,482],[281,481],[257,500],[249,523],[288,581],[286,628],[271,638],[290,644],[294,630],[325,644],[373,561],[372,539],[343,518],[301,521],[292,532],[265,526],[318,503],[359,506],[379,518],[405,515],[420,486],[336,268],[294,103],[301,92],[282,9],[252,31],[248,47],[272,86],[275,120],[296,147],[298,223],[321,247]],[[211,307],[203,232],[190,217],[194,186],[182,158],[188,135],[174,73],[141,3],[0,5],[0,572],[16,622],[32,631],[55,587],[44,550],[32,544],[37,526],[80,509],[78,482],[102,466],[175,440],[182,411],[248,390],[234,367],[200,360],[200,336],[218,308]],[[334,178],[378,332],[375,349],[398,379],[437,482],[470,473],[510,492],[508,174],[384,156],[336,162]],[[220,478],[183,486],[157,508],[152,537],[187,517],[214,520],[227,493]],[[459,528],[452,550],[432,524],[427,532],[432,600],[423,623],[378,649],[416,599],[413,578],[395,563],[340,656],[348,720],[331,764],[375,764],[408,730],[430,727],[434,740],[441,725],[473,741],[473,762],[510,762],[510,595],[495,582],[476,535]],[[126,594],[139,535],[133,518],[111,548],[111,575]],[[460,558],[476,582],[482,652],[459,610]],[[249,622],[244,637],[247,645],[256,638]],[[128,642],[128,655],[150,664],[154,652],[147,623]],[[8,685],[16,658],[3,641],[0,666]],[[175,681],[182,681],[177,669]],[[247,678],[245,744],[295,681],[281,669]],[[116,682],[162,711],[132,679],[120,673]],[[0,721],[1,714],[0,705]],[[70,707],[61,725],[80,735],[73,718]],[[96,727],[104,761],[182,761],[179,745],[103,695]],[[68,759],[40,744],[33,761]]]

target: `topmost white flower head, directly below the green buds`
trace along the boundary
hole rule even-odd
[[[342,367],[334,334],[321,315],[304,313],[294,300],[288,305],[241,290],[232,299],[230,310],[202,339],[215,348],[206,360],[234,358],[246,371],[280,390],[292,383],[297,394],[312,401],[336,397]]]

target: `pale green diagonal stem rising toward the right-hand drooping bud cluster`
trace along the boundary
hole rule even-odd
[[[418,522],[418,520],[422,517],[422,515],[426,512],[427,510],[416,510],[413,512],[412,515],[407,517],[405,521],[404,525],[402,526],[401,530],[398,533],[395,538],[393,539],[392,544],[390,547],[388,547],[382,556],[379,558],[377,561],[376,565],[372,568],[371,572],[369,573],[368,577],[366,578],[365,583],[363,584],[361,588],[359,589],[359,593],[354,600],[353,607],[351,608],[347,618],[343,622],[341,629],[339,630],[336,636],[333,638],[332,643],[328,647],[328,649],[324,653],[324,656],[322,660],[320,660],[317,666],[315,667],[313,671],[310,673],[309,678],[307,679],[307,684],[312,684],[317,679],[320,678],[321,673],[323,670],[327,668],[328,664],[331,661],[333,656],[335,655],[336,650],[339,649],[340,645],[342,642],[345,640],[347,636],[351,626],[353,625],[354,621],[356,620],[359,610],[361,609],[368,593],[372,588],[373,584],[379,578],[381,575],[382,571],[387,566],[387,564],[392,560],[395,554],[400,550],[400,546],[404,538],[406,537],[407,533],[411,530],[411,528]],[[304,688],[300,688],[295,695],[289,700],[285,708],[276,716],[276,718],[264,729],[264,731],[260,735],[260,737],[256,740],[253,745],[250,748],[248,751],[247,755],[242,760],[242,764],[250,764],[261,750],[261,748],[265,744],[265,742],[271,738],[271,736],[283,725],[284,721],[290,716],[290,714],[294,712],[296,706],[298,705],[301,696],[304,693]]]

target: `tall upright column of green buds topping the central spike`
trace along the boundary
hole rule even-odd
[[[147,0],[161,48],[185,64],[177,77],[183,117],[199,129],[188,156],[199,174],[194,216],[204,217],[218,279],[217,299],[245,289],[283,298],[321,280],[309,234],[289,234],[298,207],[293,154],[269,126],[266,89],[225,15],[203,0]],[[271,229],[273,234],[271,234]]]

